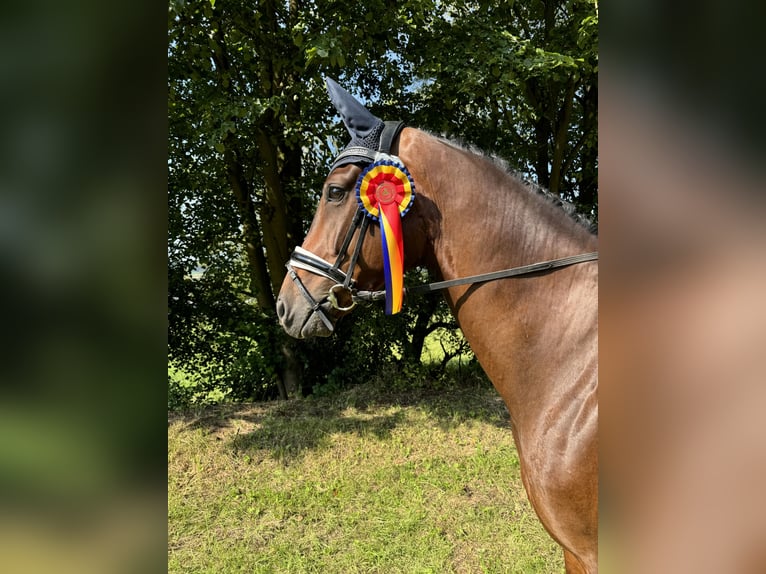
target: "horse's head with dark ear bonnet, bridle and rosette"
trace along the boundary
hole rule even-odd
[[[387,312],[397,312],[401,275],[419,263],[425,244],[415,182],[394,155],[403,124],[383,122],[329,78],[327,91],[351,141],[333,162],[309,232],[287,263],[277,314],[296,338],[329,336],[359,293],[384,286]]]

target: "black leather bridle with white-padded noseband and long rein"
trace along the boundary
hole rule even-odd
[[[338,164],[350,156],[353,156],[355,160],[363,158],[369,160],[370,163],[377,161],[381,157],[389,156],[391,144],[399,135],[399,132],[404,128],[403,122],[385,122],[383,132],[380,136],[380,145],[378,151],[370,150],[365,147],[347,147],[333,162],[330,171],[332,172]],[[367,227],[369,226],[370,219],[365,216],[364,209],[359,207],[351,220],[346,236],[341,244],[338,257],[335,259],[335,263],[330,263],[319,257],[318,255],[310,252],[303,247],[296,247],[290,256],[290,260],[287,262],[287,272],[290,278],[295,282],[298,290],[303,297],[309,303],[311,310],[314,313],[319,314],[319,318],[330,330],[334,331],[332,319],[330,318],[327,309],[323,306],[325,303],[329,303],[332,309],[347,313],[351,311],[357,304],[357,302],[373,302],[380,301],[385,298],[385,291],[360,291],[355,287],[355,281],[352,277],[356,262],[359,258],[359,254],[362,251],[362,245],[364,238],[367,235]],[[351,253],[351,258],[348,265],[348,271],[343,271],[340,267],[346,262],[348,258],[348,248],[351,245],[351,240],[359,229],[359,237],[356,240],[356,245]],[[459,279],[451,279],[448,281],[438,281],[435,283],[428,283],[424,285],[416,285],[414,287],[407,287],[405,293],[407,295],[419,295],[424,293],[432,293],[434,291],[440,291],[449,287],[455,287],[458,285],[469,285],[474,283],[486,283],[488,281],[495,281],[497,279],[505,279],[509,277],[520,277],[525,275],[531,275],[534,273],[542,273],[561,267],[567,267],[576,263],[584,263],[586,261],[595,261],[598,259],[598,252],[593,251],[591,253],[582,253],[579,255],[572,255],[569,257],[561,257],[559,259],[551,259],[550,261],[541,261],[538,263],[532,263],[529,265],[523,265],[521,267],[513,267],[511,269],[503,269],[501,271],[494,271],[491,273],[482,273],[480,275],[473,275],[470,277],[462,277]],[[314,275],[325,277],[335,284],[330,287],[322,299],[317,301],[311,295],[309,290],[303,284],[300,277],[296,273],[296,269],[303,269]]]

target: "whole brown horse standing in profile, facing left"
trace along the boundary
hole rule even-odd
[[[277,307],[284,329],[298,338],[329,335],[355,293],[383,285],[378,230],[356,223],[355,184],[373,156],[364,157],[360,148],[369,144],[358,144],[365,134],[347,116],[364,112],[341,109],[337,89],[333,99],[357,141],[341,154],[351,161],[336,160],[288,264]],[[597,249],[585,226],[494,162],[400,129],[385,151],[415,184],[401,220],[406,268],[424,265],[450,280]],[[598,568],[597,280],[591,261],[444,291],[508,407],[527,495],[563,547],[567,572]]]

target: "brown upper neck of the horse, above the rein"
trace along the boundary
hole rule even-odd
[[[402,159],[431,203],[433,263],[445,279],[596,250],[561,207],[489,160],[422,132],[408,143],[419,161]]]

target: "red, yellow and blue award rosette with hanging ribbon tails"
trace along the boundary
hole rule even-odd
[[[378,160],[359,176],[356,197],[367,215],[380,222],[383,271],[386,281],[386,314],[402,310],[404,301],[404,238],[402,217],[415,199],[415,182],[403,164]]]

